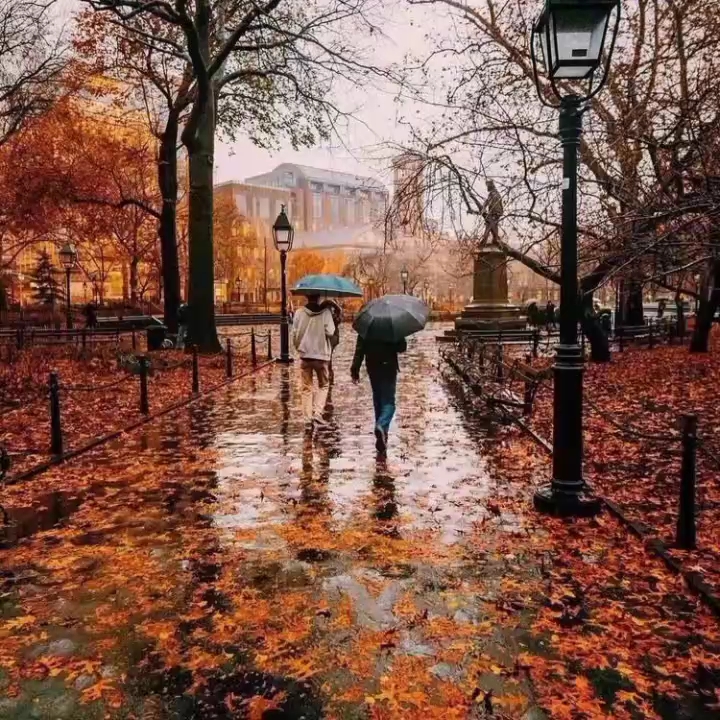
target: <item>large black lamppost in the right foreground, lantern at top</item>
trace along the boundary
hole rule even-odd
[[[610,47],[603,55],[610,17],[615,26]],[[577,155],[582,116],[588,101],[607,80],[620,24],[620,0],[546,0],[533,28],[530,47],[535,85],[540,101],[560,109],[563,146],[562,233],[560,249],[560,343],[555,348],[553,398],[553,477],[535,493],[535,508],[559,515],[593,515],[600,501],[583,480],[582,392],[584,360],[578,345],[580,298],[577,279]],[[539,40],[547,75],[541,89],[535,54]],[[604,67],[600,67],[602,60]],[[599,78],[595,78],[600,69]],[[568,91],[557,86],[568,81]],[[579,86],[587,81],[584,94]],[[549,91],[549,92],[548,92]],[[548,102],[554,95],[557,103]]]

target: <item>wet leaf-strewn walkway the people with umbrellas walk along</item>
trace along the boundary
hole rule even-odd
[[[682,582],[611,518],[535,515],[547,458],[431,333],[378,462],[348,340],[314,439],[274,367],[5,491],[0,717],[716,717]]]

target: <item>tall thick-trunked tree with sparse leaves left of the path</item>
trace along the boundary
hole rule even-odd
[[[246,123],[255,122],[263,131],[278,129],[302,144],[326,132],[325,119],[338,114],[329,95],[333,81],[342,75],[362,82],[377,72],[361,62],[357,49],[347,41],[371,28],[364,16],[366,2],[326,0],[309,8],[285,5],[281,0],[260,5],[230,0],[85,2],[111,13],[128,32],[191,68],[192,102],[181,133],[190,172],[189,333],[203,350],[215,350],[216,130],[219,126],[242,130]],[[137,29],[141,17],[152,23],[151,33]]]

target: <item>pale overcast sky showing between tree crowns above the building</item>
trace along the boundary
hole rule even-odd
[[[80,0],[59,0],[60,11],[69,22]],[[385,37],[374,42],[375,62],[401,61],[408,51],[420,51],[424,28],[436,23],[437,11],[430,7],[409,8],[402,0],[389,0],[383,11],[382,29]],[[397,123],[399,108],[390,88],[368,93],[351,92],[342,98],[345,107],[354,110],[356,120],[350,121],[341,136],[323,147],[294,152],[291,148],[268,152],[247,139],[225,143],[218,139],[215,153],[216,182],[242,180],[267,172],[281,162],[296,162],[315,167],[374,175],[385,183],[390,181],[387,142],[403,142],[405,133]]]

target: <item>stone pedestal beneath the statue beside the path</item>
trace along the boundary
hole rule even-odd
[[[473,299],[455,320],[456,329],[522,329],[527,320],[520,313],[508,302],[507,258],[497,246],[481,248],[473,268]]]

